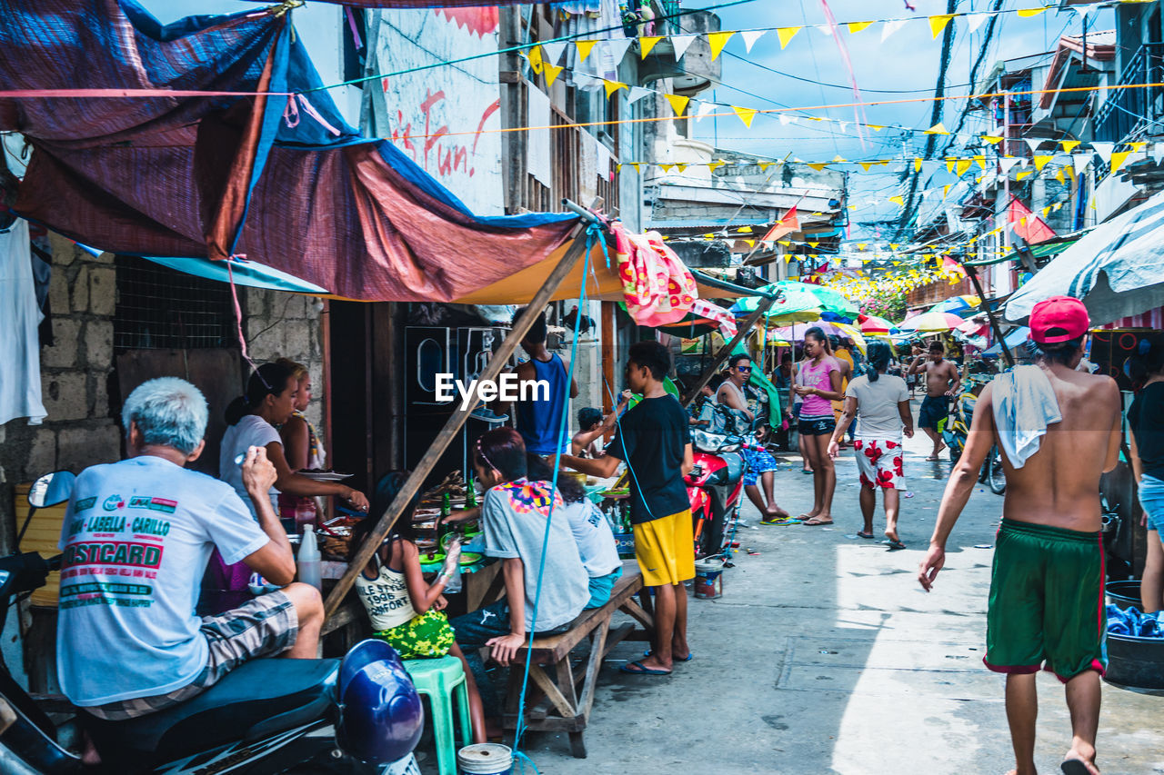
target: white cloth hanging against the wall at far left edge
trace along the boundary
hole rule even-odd
[[[0,232],[0,425],[27,417],[29,425],[44,420],[41,400],[41,347],[37,327],[41,308],[36,304],[29,255],[28,221],[17,220]]]

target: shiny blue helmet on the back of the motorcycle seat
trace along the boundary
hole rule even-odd
[[[399,654],[382,640],[356,644],[340,664],[335,739],[356,759],[386,765],[420,741],[425,711]]]

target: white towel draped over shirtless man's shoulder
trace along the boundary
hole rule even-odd
[[[1063,420],[1051,381],[1037,365],[1015,367],[993,383],[994,426],[1015,468],[1038,452],[1046,426]]]

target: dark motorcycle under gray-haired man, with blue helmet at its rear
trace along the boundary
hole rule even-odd
[[[64,471],[34,483],[24,528],[37,509],[69,498],[73,478]],[[61,566],[61,555],[36,552],[0,557],[0,628],[9,600],[43,586]],[[420,697],[381,640],[357,644],[342,660],[253,660],[172,708],[125,721],[80,711],[68,728],[50,720],[0,660],[0,772],[12,775],[420,775],[412,749],[423,728]],[[59,741],[63,731],[73,740],[84,731],[101,765],[83,766]]]

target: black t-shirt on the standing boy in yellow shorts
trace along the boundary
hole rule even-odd
[[[674,396],[644,398],[618,421],[606,454],[631,469],[631,521],[636,525],[690,509],[683,452],[691,441],[687,412]]]

